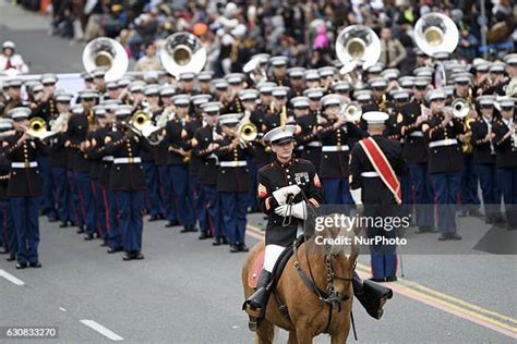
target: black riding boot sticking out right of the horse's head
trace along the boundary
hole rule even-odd
[[[366,312],[374,319],[381,319],[384,312],[384,304],[393,297],[392,290],[370,280],[361,281],[356,271],[353,271],[352,285],[353,295]]]

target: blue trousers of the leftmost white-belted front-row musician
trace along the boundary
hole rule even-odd
[[[12,197],[11,209],[17,239],[17,261],[38,261],[40,197]]]

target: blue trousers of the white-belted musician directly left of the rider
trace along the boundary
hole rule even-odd
[[[244,244],[249,193],[219,193],[223,225],[231,245]]]

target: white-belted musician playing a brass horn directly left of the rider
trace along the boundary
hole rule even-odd
[[[219,118],[224,136],[216,143],[219,159],[217,192],[225,233],[230,242],[230,253],[248,251],[245,245],[247,210],[252,185],[248,158],[253,156],[253,147],[238,133],[239,113],[227,113]]]

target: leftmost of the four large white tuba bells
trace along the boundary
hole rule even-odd
[[[88,73],[96,69],[106,69],[105,81],[113,82],[128,71],[128,53],[124,47],[112,38],[95,38],[84,47],[83,66]]]

